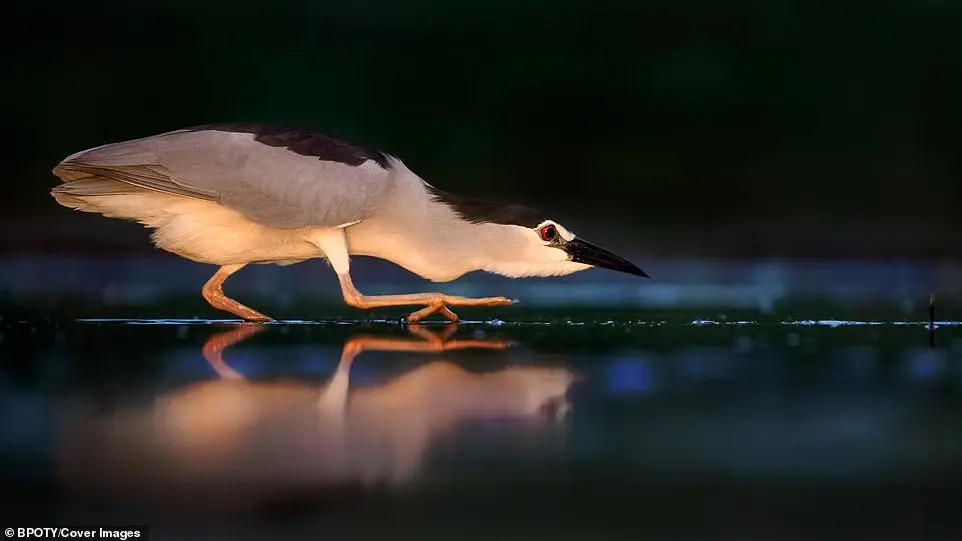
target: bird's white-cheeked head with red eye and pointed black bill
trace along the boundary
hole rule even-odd
[[[510,243],[504,259],[486,270],[512,277],[563,276],[597,267],[647,278],[634,263],[600,246],[579,239],[554,220],[542,220],[533,227],[511,224],[512,236],[521,242]]]

